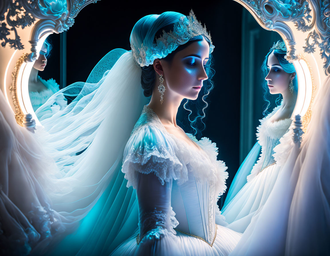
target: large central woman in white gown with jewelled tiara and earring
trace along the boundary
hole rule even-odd
[[[228,255],[241,234],[224,227],[217,207],[226,189],[227,167],[217,161],[214,143],[197,141],[176,125],[182,100],[197,99],[203,81],[207,84],[211,37],[193,13],[165,12],[139,20],[130,42],[132,52],[118,62],[138,68],[139,84],[121,86],[125,92],[142,84],[143,94],[151,95],[148,105],[136,104],[142,114],[123,151],[122,172],[127,188],[136,189],[138,202],[129,199],[136,200],[135,191],[132,195],[131,188],[123,188],[126,182],[118,174],[115,185],[84,218],[78,238],[68,236],[52,255],[75,243],[81,243],[78,255]],[[205,94],[210,90],[203,89]],[[135,93],[130,99],[137,97]],[[88,228],[88,222],[95,224]]]

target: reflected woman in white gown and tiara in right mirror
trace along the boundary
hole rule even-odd
[[[251,150],[239,171],[228,193],[222,208],[222,214],[229,223],[227,227],[243,233],[251,222],[251,218],[265,204],[279,174],[279,166],[274,159],[274,148],[291,125],[291,115],[297,100],[297,77],[293,64],[286,59],[286,47],[283,41],[274,43],[262,64],[265,80],[265,100],[268,102],[264,111],[266,115],[270,101],[267,95],[280,94],[281,104],[260,120],[257,127],[257,140],[261,146],[259,160],[249,171],[248,163],[255,162]],[[244,181],[246,175],[247,179]],[[245,184],[241,189],[240,184]],[[240,190],[239,190],[240,189]],[[238,192],[237,192],[238,191]]]

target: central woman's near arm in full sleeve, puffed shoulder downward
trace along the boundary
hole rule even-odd
[[[183,173],[174,143],[156,127],[142,127],[127,142],[122,171],[127,186],[136,189],[139,204],[134,255],[182,255],[174,230],[179,222],[171,207],[172,181]]]

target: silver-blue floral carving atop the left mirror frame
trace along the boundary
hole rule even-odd
[[[87,4],[96,1],[98,0],[4,0],[4,3],[0,5],[1,45],[5,47],[8,43],[14,49],[24,49],[16,28],[31,26],[36,19],[40,19],[34,25],[30,40],[31,54],[26,58],[26,61],[33,61],[36,58],[35,46],[42,36],[40,34],[42,31],[61,33],[68,30],[74,23],[73,18],[80,10]],[[14,32],[15,38],[10,38],[11,31]]]

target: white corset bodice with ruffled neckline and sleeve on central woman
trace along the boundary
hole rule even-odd
[[[153,208],[149,202],[144,202],[144,198],[139,198],[139,194],[144,194],[139,186],[146,183],[139,182],[137,173],[153,173],[160,184],[168,188],[162,194],[169,192],[170,198],[162,198],[162,205],[156,200],[158,207],[151,212],[152,217],[148,217],[151,221],[140,218],[141,235],[148,236],[143,223],[148,223],[149,228],[150,222],[157,222],[173,234],[175,228],[212,245],[216,236],[215,219],[220,216],[216,203],[226,189],[227,167],[217,160],[215,143],[205,137],[198,141],[191,134],[187,135],[202,150],[169,134],[157,115],[145,106],[126,144],[122,171],[128,180],[127,186],[137,189],[140,216],[150,216],[146,209]],[[164,205],[167,211],[164,211]],[[154,219],[156,215],[160,216],[158,220]],[[152,228],[153,236],[155,230]],[[163,230],[159,230],[157,232],[163,234]]]

